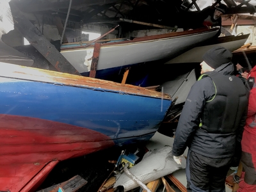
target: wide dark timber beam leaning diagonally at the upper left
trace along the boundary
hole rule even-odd
[[[68,60],[52,45],[47,38],[20,12],[10,1],[14,26],[35,49],[45,57],[59,72],[80,75]]]

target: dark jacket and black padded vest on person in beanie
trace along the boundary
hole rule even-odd
[[[192,86],[175,132],[173,156],[182,155],[186,147],[206,157],[234,156],[246,120],[248,90],[233,72],[232,63],[223,64]],[[214,82],[214,74],[222,80]]]

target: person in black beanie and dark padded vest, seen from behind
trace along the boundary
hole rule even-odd
[[[193,84],[179,118],[173,159],[186,147],[188,191],[225,191],[225,178],[246,120],[248,90],[232,75],[232,53],[224,47],[205,52],[201,76]],[[239,153],[238,153],[239,154]]]

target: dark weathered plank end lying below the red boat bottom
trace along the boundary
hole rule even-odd
[[[76,175],[65,182],[61,182],[60,184],[56,184],[54,186],[42,189],[37,192],[75,192],[83,187],[86,183],[86,180],[84,180],[81,176]]]

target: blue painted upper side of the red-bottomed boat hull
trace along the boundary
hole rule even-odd
[[[114,141],[156,132],[170,100],[0,77],[0,113],[86,127]],[[162,103],[163,101],[163,103]]]

